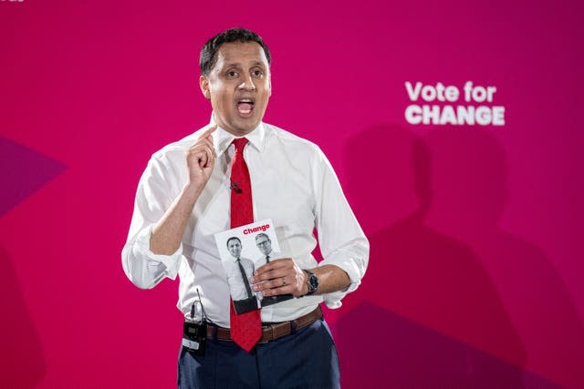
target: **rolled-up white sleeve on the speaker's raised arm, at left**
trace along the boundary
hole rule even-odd
[[[150,250],[152,229],[179,194],[177,181],[168,160],[154,154],[138,184],[121,263],[126,276],[139,288],[153,288],[167,277],[174,280],[183,259],[183,243],[172,255],[158,255]]]

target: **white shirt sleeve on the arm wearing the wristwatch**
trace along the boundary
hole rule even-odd
[[[369,241],[340,187],[339,179],[325,155],[318,149],[314,161],[313,188],[318,245],[323,261],[318,266],[336,265],[349,275],[347,290],[324,294],[328,308],[339,308],[341,299],[360,285],[369,261]]]

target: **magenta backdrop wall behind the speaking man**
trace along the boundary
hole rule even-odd
[[[125,277],[141,171],[203,126],[198,50],[273,52],[266,121],[318,143],[371,242],[328,311],[345,387],[584,387],[582,5],[0,0],[0,386],[172,387],[178,282]],[[404,83],[506,125],[412,126]],[[580,231],[580,232],[578,232]]]

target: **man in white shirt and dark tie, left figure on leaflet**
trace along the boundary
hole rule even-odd
[[[254,262],[241,257],[242,245],[239,238],[229,238],[226,245],[234,260],[224,263],[224,266],[235,312],[252,311],[257,308],[257,299],[249,284],[249,278],[255,271]]]

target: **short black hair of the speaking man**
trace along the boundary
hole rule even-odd
[[[217,51],[224,43],[255,42],[264,49],[267,65],[270,65],[270,50],[267,48],[261,36],[247,28],[230,28],[209,39],[201,49],[199,56],[199,68],[203,76],[208,76],[217,61]]]

